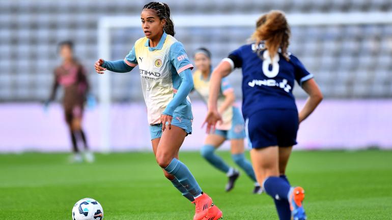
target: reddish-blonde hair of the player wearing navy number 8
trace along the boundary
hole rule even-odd
[[[282,11],[270,11],[261,16],[256,22],[256,31],[251,36],[257,43],[265,42],[271,59],[281,48],[282,55],[290,60],[287,53],[289,47],[290,26]]]

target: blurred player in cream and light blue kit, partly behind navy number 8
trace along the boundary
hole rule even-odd
[[[212,72],[211,52],[206,48],[199,48],[195,51],[193,58],[197,68],[193,73],[193,88],[207,104],[210,93],[210,76]],[[216,125],[216,130],[213,134],[207,135],[204,146],[200,151],[202,156],[216,169],[226,173],[229,177],[226,191],[231,191],[240,173],[233,167],[229,167],[229,165],[215,153],[215,150],[223,142],[230,140],[233,161],[245,171],[252,181],[255,182],[253,193],[261,193],[261,187],[256,180],[252,165],[244,156],[244,138],[246,137],[244,129],[245,122],[239,108],[235,106],[234,89],[227,78],[223,78],[221,81],[218,97],[218,111],[219,114],[222,115],[223,121],[221,124]]]

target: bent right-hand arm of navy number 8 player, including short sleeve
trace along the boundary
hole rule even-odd
[[[309,95],[305,105],[298,114],[298,120],[299,123],[301,123],[310,114],[312,114],[312,112],[320,104],[320,102],[323,100],[323,94],[316,81],[313,79],[313,74],[309,73],[305,69],[297,57],[292,56],[291,59],[295,66],[295,79],[297,80],[298,84],[302,86],[307,95]]]

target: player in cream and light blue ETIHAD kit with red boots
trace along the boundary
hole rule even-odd
[[[195,204],[194,220],[219,219],[222,212],[202,192],[186,165],[178,160],[179,149],[192,132],[193,116],[188,94],[193,88],[193,66],[183,45],[174,38],[169,6],[149,3],[143,8],[141,20],[146,37],[135,42],[124,60],[99,59],[95,69],[101,74],[104,70],[125,73],[139,65],[157,163],[165,177]]]

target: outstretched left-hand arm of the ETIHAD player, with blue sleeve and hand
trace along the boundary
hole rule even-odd
[[[95,62],[95,71],[97,73],[103,74],[103,71],[110,70],[117,73],[127,73],[133,70],[137,65],[135,47],[129,51],[128,55],[123,60],[116,61],[106,61],[103,59],[98,59]]]

